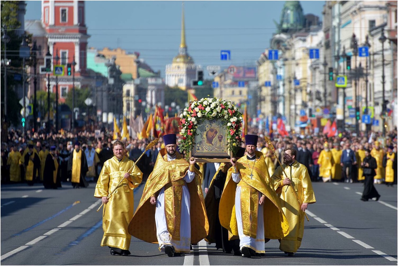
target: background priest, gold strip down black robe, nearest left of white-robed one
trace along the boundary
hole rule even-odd
[[[74,150],[70,153],[68,160],[68,173],[72,177],[73,188],[88,187],[84,177],[88,171],[87,160],[84,152],[80,149],[80,142],[75,143]]]

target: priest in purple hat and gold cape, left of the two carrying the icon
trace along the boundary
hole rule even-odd
[[[129,233],[145,242],[158,243],[169,257],[189,253],[190,245],[209,233],[209,223],[196,160],[176,151],[176,134],[163,136],[154,169],[146,181]]]

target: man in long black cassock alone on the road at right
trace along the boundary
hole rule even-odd
[[[376,159],[371,156],[371,152],[369,149],[365,150],[365,159],[361,163],[361,167],[363,168],[363,175],[365,176],[365,183],[363,188],[363,193],[361,197],[361,201],[368,201],[371,198],[380,198],[380,194],[377,192],[375,186],[373,185],[373,179],[376,175],[375,169],[377,168]]]

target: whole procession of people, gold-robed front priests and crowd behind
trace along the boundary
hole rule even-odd
[[[263,256],[270,239],[279,239],[280,250],[295,256],[305,210],[316,202],[312,182],[363,182],[361,200],[368,201],[380,198],[374,184],[392,187],[397,181],[396,130],[385,138],[377,132],[369,138],[348,133],[332,138],[272,133],[268,138],[256,128],[248,132],[229,163],[204,164],[185,160],[176,134],[155,144],[113,140],[106,130],[100,136],[22,136],[11,130],[2,143],[1,181],[43,183],[46,189],[96,182],[94,196],[107,205],[101,246],[109,246],[112,255],[129,255],[132,235],[157,242],[168,256],[190,252],[205,238],[243,257]],[[132,193],[141,182],[145,187],[134,214]]]

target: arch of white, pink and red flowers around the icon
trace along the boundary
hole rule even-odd
[[[189,152],[192,150],[195,142],[198,125],[205,119],[221,119],[226,124],[229,134],[227,134],[228,149],[236,153],[242,142],[242,113],[238,111],[236,104],[230,101],[217,98],[202,98],[191,102],[185,107],[181,118],[181,142],[179,150],[184,152],[188,159]]]

